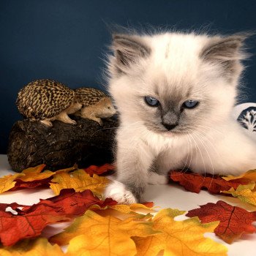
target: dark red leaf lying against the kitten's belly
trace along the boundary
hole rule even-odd
[[[213,194],[219,194],[219,192],[227,191],[231,187],[236,189],[241,184],[248,184],[248,181],[241,179],[225,181],[219,176],[202,176],[198,173],[181,173],[176,170],[170,172],[170,179],[178,181],[185,189],[195,193],[199,193],[201,189],[206,188]]]

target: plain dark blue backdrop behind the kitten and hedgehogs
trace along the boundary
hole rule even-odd
[[[37,78],[75,88],[98,87],[107,24],[175,26],[233,33],[255,30],[256,1],[246,0],[0,0],[0,154],[5,154],[18,90]],[[249,45],[256,45],[255,39]],[[256,53],[256,46],[250,50]],[[246,101],[256,102],[256,57],[244,81]]]

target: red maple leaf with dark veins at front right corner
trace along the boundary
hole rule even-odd
[[[218,220],[219,225],[215,228],[214,233],[228,244],[231,244],[234,239],[240,238],[242,233],[256,231],[252,225],[252,222],[256,220],[256,211],[249,212],[237,206],[230,206],[221,200],[191,210],[186,216],[197,216],[203,223]]]

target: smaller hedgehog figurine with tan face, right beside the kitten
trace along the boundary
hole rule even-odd
[[[101,118],[110,118],[116,113],[110,97],[103,91],[86,87],[78,88],[75,89],[75,97],[82,104],[82,108],[75,115],[81,118],[89,118],[102,125]]]

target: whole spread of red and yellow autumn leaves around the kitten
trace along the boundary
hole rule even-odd
[[[187,219],[179,221],[175,218],[185,211],[167,208],[156,213],[153,203],[118,205],[102,196],[109,180],[100,175],[113,171],[112,165],[56,172],[44,167],[0,178],[1,193],[50,187],[56,195],[32,206],[0,203],[0,255],[227,255],[227,247],[205,233],[214,232],[230,244],[243,233],[256,232],[256,211],[221,200],[188,211]],[[208,189],[256,206],[256,170],[238,177],[171,171],[170,180],[190,192]],[[45,227],[59,222],[67,222],[64,231],[46,238]]]

